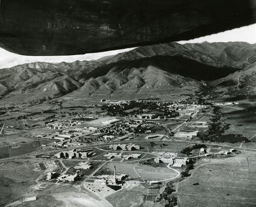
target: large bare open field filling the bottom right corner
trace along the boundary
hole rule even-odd
[[[255,206],[254,152],[207,162],[199,161],[191,177],[178,184],[179,206]]]

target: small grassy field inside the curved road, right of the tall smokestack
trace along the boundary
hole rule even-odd
[[[153,166],[145,164],[136,165],[135,170],[143,179],[150,181],[162,181],[178,175],[173,169],[161,167],[154,168]]]

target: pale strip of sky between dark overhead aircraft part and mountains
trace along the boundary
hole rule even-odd
[[[199,37],[195,39],[191,39],[189,41],[179,41],[178,43],[200,43],[200,42],[248,42],[251,44],[256,43],[256,24],[242,26],[241,28],[228,30],[224,32],[220,32],[218,34],[208,35],[205,37]],[[134,48],[127,48],[122,50],[111,50],[106,52],[98,52],[92,54],[84,54],[84,55],[71,55],[71,56],[23,56],[17,55],[12,52],[6,51],[0,48],[0,69],[1,68],[10,68],[11,66],[23,64],[23,63],[31,63],[31,62],[74,62],[74,61],[84,61],[91,59],[99,59],[104,56],[119,54],[120,52],[125,52],[132,50]]]

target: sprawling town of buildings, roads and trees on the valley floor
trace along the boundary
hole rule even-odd
[[[225,105],[237,104],[215,105],[192,97],[174,102],[103,99],[99,104],[18,117],[10,110],[9,118],[2,120],[1,136],[32,140],[31,144],[17,142],[11,151],[22,153],[25,146],[23,154],[40,161],[40,185],[77,184],[102,199],[143,186],[146,199],[161,203],[166,184],[186,179],[200,160],[238,152],[232,145],[206,140],[205,134],[216,128],[216,110]],[[240,138],[241,145],[247,142]]]

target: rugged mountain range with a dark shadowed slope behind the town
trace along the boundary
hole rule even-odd
[[[142,46],[96,61],[27,63],[0,69],[0,103],[161,98],[193,94],[206,86],[220,94],[255,95],[255,61],[255,44],[204,42]]]

